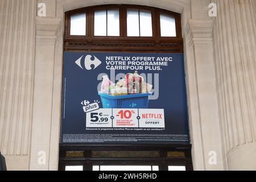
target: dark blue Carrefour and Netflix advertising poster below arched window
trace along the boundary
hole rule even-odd
[[[63,144],[189,144],[181,53],[64,52]]]

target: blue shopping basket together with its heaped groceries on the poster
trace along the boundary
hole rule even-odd
[[[107,89],[108,88],[108,89]],[[101,96],[103,108],[139,108],[147,109],[152,85],[144,82],[136,71],[127,73],[126,78],[120,79],[117,84],[110,82],[108,76],[102,81]]]

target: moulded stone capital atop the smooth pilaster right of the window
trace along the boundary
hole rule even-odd
[[[212,43],[213,20],[189,19],[185,30],[192,46]]]

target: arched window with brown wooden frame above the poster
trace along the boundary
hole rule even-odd
[[[64,51],[183,52],[180,14],[147,6],[104,5],[65,14]]]

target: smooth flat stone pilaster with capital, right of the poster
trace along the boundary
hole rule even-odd
[[[200,130],[193,130],[193,139],[200,135],[201,140],[193,140],[193,147],[200,152],[203,168],[200,170],[222,170],[222,144],[220,119],[218,115],[216,76],[213,59],[213,21],[210,19],[190,19],[186,27],[187,40],[191,42],[193,61],[195,65],[195,84],[197,86],[197,102],[199,117],[193,119],[193,126],[200,126]],[[189,87],[189,85],[188,85]],[[190,96],[191,97],[191,96]],[[196,114],[196,113],[195,113]],[[193,116],[191,116],[193,117]],[[200,150],[201,148],[201,150]],[[197,154],[194,154],[197,156]],[[209,156],[212,155],[212,158]]]

